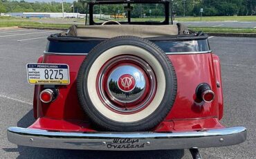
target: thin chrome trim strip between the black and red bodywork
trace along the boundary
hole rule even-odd
[[[187,54],[205,54],[205,53],[211,53],[212,50],[207,51],[193,51],[193,52],[178,52],[178,53],[165,53],[166,55],[187,55]],[[44,51],[44,54],[46,55],[88,55],[88,53],[52,53]]]

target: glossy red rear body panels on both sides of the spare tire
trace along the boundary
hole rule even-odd
[[[223,115],[219,57],[212,53],[169,55],[174,65],[178,88],[174,105],[165,120],[152,131],[188,131],[218,129]],[[31,128],[55,131],[97,131],[90,127],[89,119],[77,99],[77,71],[86,55],[44,55],[38,62],[68,64],[70,84],[59,86],[56,100],[45,104],[38,99],[42,86],[35,86],[34,115],[38,118]],[[196,87],[208,83],[217,94],[212,102],[197,102]]]

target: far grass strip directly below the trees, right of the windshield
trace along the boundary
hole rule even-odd
[[[176,21],[201,21],[200,17],[177,17]],[[256,21],[256,16],[202,17],[202,21]]]

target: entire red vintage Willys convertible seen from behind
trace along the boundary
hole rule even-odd
[[[95,16],[108,5],[125,12],[123,19]],[[150,6],[163,10],[163,20],[134,18]],[[10,127],[10,142],[57,149],[190,149],[199,158],[197,148],[246,140],[246,128],[219,122],[221,68],[208,35],[172,24],[169,1],[92,1],[88,8],[89,25],[51,35],[44,55],[27,65],[36,121]]]

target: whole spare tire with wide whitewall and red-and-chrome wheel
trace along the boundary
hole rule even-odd
[[[140,37],[95,46],[77,75],[77,94],[92,122],[107,131],[147,131],[170,112],[176,74],[161,48]]]

